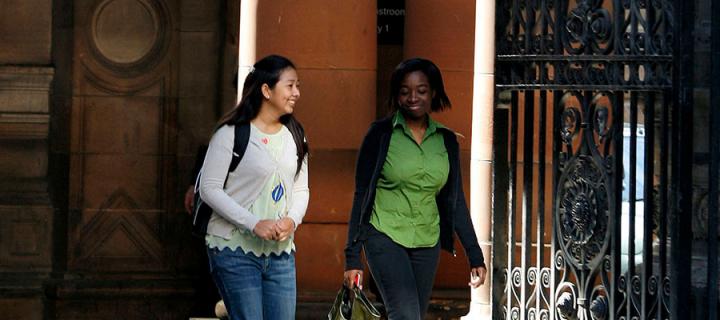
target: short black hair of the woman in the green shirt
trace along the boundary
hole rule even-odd
[[[408,73],[420,71],[425,74],[430,82],[430,89],[435,93],[432,99],[430,109],[433,112],[450,109],[450,98],[445,93],[445,85],[442,81],[440,69],[430,60],[423,58],[411,58],[401,62],[390,77],[390,96],[388,97],[388,107],[390,110],[398,110],[398,95],[400,94],[400,86]]]

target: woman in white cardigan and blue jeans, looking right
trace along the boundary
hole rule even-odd
[[[200,196],[213,209],[205,237],[210,272],[233,320],[295,319],[293,234],[309,199],[308,144],[292,115],[299,98],[293,63],[261,59],[205,157]],[[243,125],[250,126],[247,149],[228,173],[234,128]]]

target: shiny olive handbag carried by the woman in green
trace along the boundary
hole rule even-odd
[[[328,320],[379,320],[380,312],[370,302],[365,293],[355,286],[353,289],[343,284],[335,302],[328,312]]]

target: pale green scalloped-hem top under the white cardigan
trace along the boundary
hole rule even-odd
[[[292,139],[290,131],[288,131],[285,126],[282,127],[280,132],[275,134],[265,134],[255,126],[253,126],[252,129],[258,133],[258,138],[266,147],[265,151],[268,152],[274,161],[278,161],[281,156],[280,153],[285,147],[286,140]],[[279,173],[275,172],[270,175],[270,178],[265,182],[260,191],[260,195],[248,210],[263,220],[279,220],[285,217],[288,212],[287,192],[288,190],[283,185]],[[205,241],[210,248],[218,248],[220,250],[230,248],[233,251],[241,248],[244,252],[252,253],[258,257],[263,255],[267,256],[271,253],[276,255],[283,252],[290,253],[295,250],[293,235],[282,242],[263,240],[257,237],[252,230],[242,227],[235,228],[231,233],[230,239],[226,240],[222,237],[207,235]]]

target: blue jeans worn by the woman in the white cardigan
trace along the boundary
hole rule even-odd
[[[210,273],[231,320],[295,319],[295,256],[257,257],[237,248],[208,248]]]

